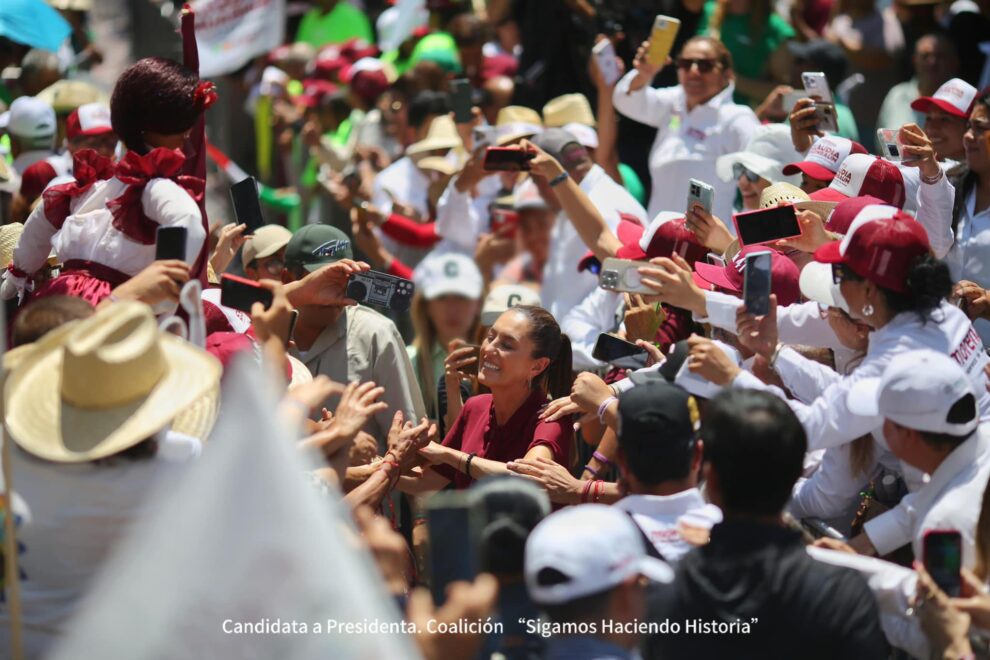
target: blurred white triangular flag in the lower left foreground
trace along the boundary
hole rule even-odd
[[[418,657],[345,505],[307,483],[249,362],[227,373],[203,457],[151,494],[53,658]]]

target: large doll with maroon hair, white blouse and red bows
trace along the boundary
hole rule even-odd
[[[180,149],[215,101],[212,83],[171,60],[149,57],[124,71],[110,114],[127,154],[116,165],[88,149],[75,154],[75,179],[49,187],[25,223],[0,297],[30,292],[54,250],[62,272],[32,296],[78,296],[95,305],[155,260],[159,227],[186,229],[191,264],[206,240],[196,204],[204,182],[180,175]]]

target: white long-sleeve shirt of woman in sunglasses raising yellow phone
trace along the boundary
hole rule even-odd
[[[718,178],[715,161],[719,156],[743,151],[760,121],[750,108],[733,103],[734,85],[688,111],[680,85],[662,89],[646,85],[630,92],[636,75],[636,71],[630,71],[616,84],[612,103],[630,119],[657,128],[650,149],[650,217],[660,211],[684,209],[688,181],[699,179],[715,188],[713,212],[732,231],[736,183]]]

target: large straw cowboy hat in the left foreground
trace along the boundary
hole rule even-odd
[[[170,424],[187,435],[208,433],[221,372],[215,358],[161,332],[141,303],[118,302],[69,325],[5,360],[13,367],[4,383],[6,424],[19,447],[80,463]],[[180,413],[184,426],[175,423]]]

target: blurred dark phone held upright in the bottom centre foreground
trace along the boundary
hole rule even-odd
[[[443,491],[426,501],[430,535],[430,590],[440,605],[452,582],[474,580],[480,570],[478,537],[480,512],[470,491]]]

